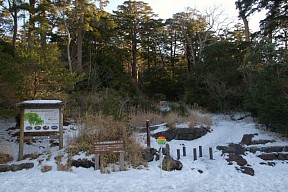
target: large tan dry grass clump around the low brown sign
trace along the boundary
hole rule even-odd
[[[133,165],[142,162],[140,144],[133,139],[129,132],[129,125],[125,121],[115,120],[113,117],[101,115],[87,115],[82,119],[83,126],[80,133],[71,142],[73,147],[68,149],[70,156],[80,151],[86,154],[94,154],[95,141],[123,140],[125,147],[125,160]],[[119,160],[119,154],[103,154],[100,156],[101,166],[115,163]]]

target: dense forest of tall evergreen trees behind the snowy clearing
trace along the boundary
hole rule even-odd
[[[1,0],[0,107],[60,99],[66,114],[150,110],[161,100],[245,110],[288,134],[287,0],[237,0],[240,23],[218,9],[159,19],[142,1]],[[263,11],[260,31],[249,19]]]

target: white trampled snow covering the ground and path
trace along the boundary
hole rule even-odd
[[[14,158],[18,153],[18,144],[13,144],[13,139],[7,141],[3,131],[12,122],[0,121],[0,147],[8,145],[7,150],[14,150]],[[165,127],[159,127],[165,130]],[[128,171],[101,174],[93,168],[72,168],[71,172],[52,171],[42,173],[41,167],[35,160],[34,168],[17,172],[0,173],[0,191],[29,191],[29,192],[282,192],[288,188],[288,161],[275,160],[274,167],[261,165],[263,162],[255,154],[247,153],[244,158],[255,170],[255,176],[240,173],[235,169],[236,164],[228,165],[226,155],[216,149],[218,145],[239,143],[243,134],[258,133],[254,139],[273,139],[276,142],[269,145],[288,145],[287,140],[276,134],[255,128],[253,121],[245,118],[241,121],[231,121],[228,116],[213,115],[213,131],[193,141],[176,141],[169,143],[171,155],[176,159],[177,149],[186,146],[187,156],[181,156],[183,163],[181,171],[166,172],[160,174],[159,161],[149,163],[146,169],[129,169]],[[157,132],[157,130],[155,130]],[[67,134],[67,132],[65,132]],[[71,133],[69,133],[71,134]],[[9,140],[9,139],[8,139]],[[12,141],[12,143],[11,143]],[[8,143],[9,142],[9,143]],[[42,150],[47,150],[45,144]],[[152,138],[151,146],[159,148],[156,140]],[[193,161],[193,148],[203,147],[203,157]],[[208,148],[213,148],[214,160],[209,159]],[[26,150],[26,151],[25,151]],[[36,148],[25,146],[24,153]],[[57,147],[51,149],[57,153]],[[51,158],[53,160],[53,158]],[[22,162],[26,162],[23,160]],[[16,162],[13,162],[16,163]],[[200,173],[203,172],[203,173]],[[160,176],[162,175],[162,177]]]

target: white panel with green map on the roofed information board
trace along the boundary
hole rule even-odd
[[[59,131],[59,109],[25,109],[24,132]]]

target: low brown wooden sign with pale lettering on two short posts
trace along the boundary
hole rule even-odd
[[[100,168],[100,155],[105,153],[120,153],[120,171],[124,171],[124,142],[116,141],[95,141],[95,170]]]

